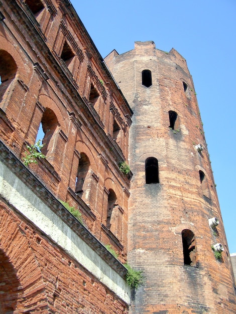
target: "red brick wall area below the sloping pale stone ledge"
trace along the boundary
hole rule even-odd
[[[127,313],[127,305],[12,209],[0,205],[1,313]]]

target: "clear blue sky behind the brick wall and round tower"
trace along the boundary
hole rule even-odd
[[[71,0],[104,58],[135,41],[175,48],[192,74],[230,253],[236,252],[236,1]],[[234,96],[233,96],[234,95]],[[234,120],[235,119],[235,120]]]

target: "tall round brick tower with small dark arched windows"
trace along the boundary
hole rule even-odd
[[[185,59],[136,42],[105,62],[134,111],[128,260],[146,282],[130,312],[235,313],[231,262]]]

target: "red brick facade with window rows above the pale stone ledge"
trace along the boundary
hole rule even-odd
[[[42,0],[44,9],[35,16],[32,3],[2,5],[0,49],[10,57],[2,58],[0,75],[8,78],[4,63],[11,60],[17,72],[7,90],[4,85],[10,79],[0,85],[1,138],[22,158],[44,123],[46,159],[30,167],[58,199],[79,208],[88,228],[105,244],[111,243],[124,262],[129,180],[119,163],[128,158],[132,111],[69,2],[52,1],[48,7]],[[65,41],[74,54],[70,63],[61,57]],[[89,103],[92,86],[99,95],[94,107]],[[120,127],[117,143],[112,138],[113,120]],[[87,155],[89,170],[83,193],[76,196],[81,153]],[[123,209],[118,236],[101,228],[107,219],[104,189],[115,190]]]

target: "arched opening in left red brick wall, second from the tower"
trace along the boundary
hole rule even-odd
[[[83,192],[88,189],[88,171],[90,162],[85,153],[80,154],[78,172],[76,177],[75,193],[82,196]]]

